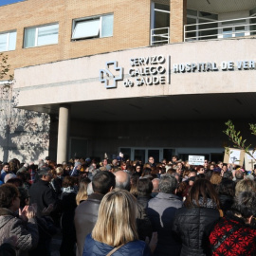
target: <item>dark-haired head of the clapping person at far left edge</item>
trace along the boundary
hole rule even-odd
[[[0,208],[9,209],[13,204],[13,200],[19,196],[20,193],[16,186],[12,184],[4,184],[0,186]]]

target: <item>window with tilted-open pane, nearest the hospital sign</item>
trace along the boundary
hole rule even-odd
[[[73,21],[72,40],[113,36],[113,14]]]

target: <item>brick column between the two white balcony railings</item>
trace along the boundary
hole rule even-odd
[[[183,42],[186,24],[187,0],[170,0],[170,43]]]

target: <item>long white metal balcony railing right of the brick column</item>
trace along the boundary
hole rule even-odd
[[[184,42],[256,35],[256,17],[184,26]]]

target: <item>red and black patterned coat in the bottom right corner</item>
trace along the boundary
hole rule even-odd
[[[233,231],[229,232],[230,229]],[[210,255],[256,255],[256,229],[230,211],[215,225],[209,239]]]

